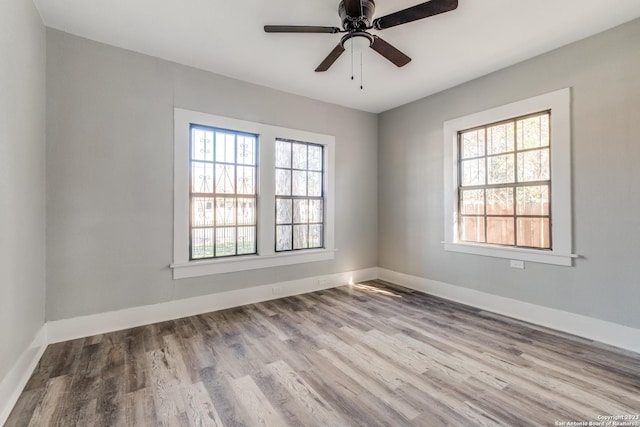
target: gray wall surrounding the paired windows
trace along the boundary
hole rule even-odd
[[[47,320],[377,265],[376,115],[52,29],[47,87]],[[174,106],[335,135],[336,259],[172,280]]]

